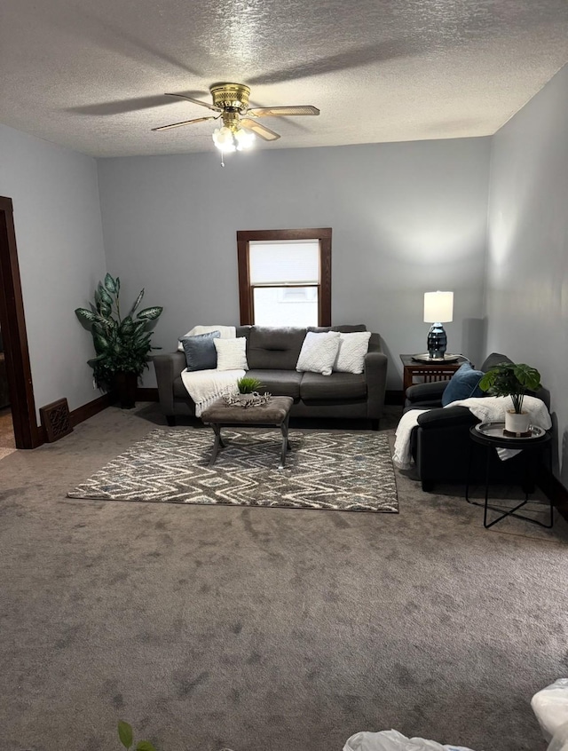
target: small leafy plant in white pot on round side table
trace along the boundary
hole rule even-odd
[[[491,396],[510,396],[513,408],[505,412],[505,430],[525,433],[529,430],[531,415],[523,410],[527,391],[540,389],[540,373],[524,362],[500,362],[488,370],[479,381],[479,388]]]

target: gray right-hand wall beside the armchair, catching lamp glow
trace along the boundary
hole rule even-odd
[[[540,370],[568,486],[568,67],[493,137],[487,350]]]

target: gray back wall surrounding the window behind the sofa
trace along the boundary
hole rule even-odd
[[[125,302],[162,304],[154,344],[238,323],[237,230],[333,228],[332,318],[364,322],[390,355],[423,352],[423,293],[454,290],[448,347],[479,360],[488,138],[99,160],[108,271]],[[146,376],[153,385],[154,373]]]

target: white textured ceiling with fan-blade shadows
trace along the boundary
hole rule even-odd
[[[493,134],[568,61],[566,0],[3,0],[0,123],[85,154],[213,151],[209,86],[251,87],[259,148]]]

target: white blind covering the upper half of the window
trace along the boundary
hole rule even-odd
[[[319,241],[250,241],[252,285],[318,284]]]

